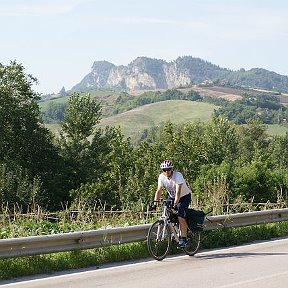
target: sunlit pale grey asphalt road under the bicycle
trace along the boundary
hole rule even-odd
[[[16,281],[16,280],[15,280]],[[19,281],[19,280],[17,280]],[[122,263],[50,276],[0,282],[17,288],[287,288],[288,238],[210,250],[194,257]]]

